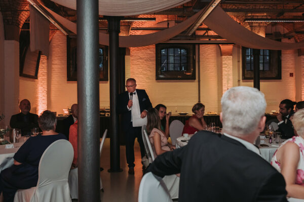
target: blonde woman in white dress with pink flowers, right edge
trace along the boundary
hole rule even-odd
[[[287,196],[304,198],[304,109],[294,114],[292,125],[299,136],[283,142],[271,164],[284,176]]]

